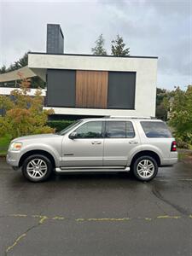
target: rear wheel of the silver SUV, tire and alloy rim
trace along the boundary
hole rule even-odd
[[[145,160],[146,160],[146,164],[144,162]],[[145,166],[148,166],[148,167],[145,167]],[[147,168],[147,169],[145,170],[144,168]],[[158,165],[156,160],[154,160],[153,157],[148,155],[143,155],[138,157],[137,160],[134,161],[132,165],[132,172],[138,180],[148,182],[157,175]],[[148,177],[144,177],[145,175],[147,175],[146,173],[148,173]]]

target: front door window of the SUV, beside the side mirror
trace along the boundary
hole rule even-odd
[[[78,138],[98,138],[102,137],[102,122],[88,122],[81,125],[77,130]]]

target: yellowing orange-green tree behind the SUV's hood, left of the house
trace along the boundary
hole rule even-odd
[[[37,90],[35,96],[29,96],[30,79],[22,79],[20,90],[11,92],[13,101],[7,96],[1,96],[0,107],[6,109],[6,113],[0,117],[0,136],[9,136],[10,139],[29,134],[49,133],[55,130],[46,125],[48,115],[53,110],[44,110],[41,90]]]

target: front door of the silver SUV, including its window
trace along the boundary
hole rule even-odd
[[[71,139],[62,142],[62,166],[102,166],[103,136],[102,121],[87,121],[75,131]]]

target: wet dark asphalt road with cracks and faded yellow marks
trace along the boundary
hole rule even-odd
[[[29,183],[0,162],[0,255],[192,255],[192,166]]]

